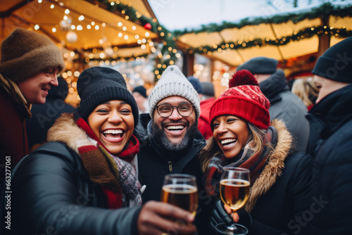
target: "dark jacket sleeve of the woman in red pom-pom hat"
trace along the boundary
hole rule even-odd
[[[281,176],[268,193],[258,198],[251,211],[253,224],[249,234],[296,234],[296,215],[306,210],[309,201],[312,165],[313,160],[306,153],[287,156]]]

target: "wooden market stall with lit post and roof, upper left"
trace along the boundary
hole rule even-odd
[[[156,21],[146,0],[1,0],[0,43],[16,27],[49,36],[61,48],[63,77],[77,97],[75,82],[85,68],[156,51]]]

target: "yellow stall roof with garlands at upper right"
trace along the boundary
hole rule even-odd
[[[189,53],[237,66],[256,56],[279,61],[317,53],[318,35],[329,34],[329,45],[352,36],[351,3],[300,8],[238,23],[205,25],[201,30],[177,31],[178,45]],[[326,22],[323,22],[326,19]]]

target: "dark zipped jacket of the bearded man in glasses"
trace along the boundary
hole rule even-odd
[[[213,234],[210,230],[210,212],[214,208],[214,201],[206,195],[201,184],[203,172],[199,163],[199,151],[206,146],[206,141],[200,132],[194,137],[191,148],[180,153],[180,157],[175,160],[168,160],[168,153],[164,153],[148,132],[148,124],[151,120],[149,114],[139,115],[139,124],[135,135],[139,139],[140,150],[137,155],[139,182],[146,185],[142,194],[142,201],[160,201],[161,188],[165,174],[191,174],[196,176],[199,189],[199,210],[196,215],[196,227],[199,235]]]

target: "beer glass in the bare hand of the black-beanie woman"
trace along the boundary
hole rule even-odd
[[[166,174],[161,190],[161,201],[177,205],[196,216],[198,208],[196,177],[190,174]]]

